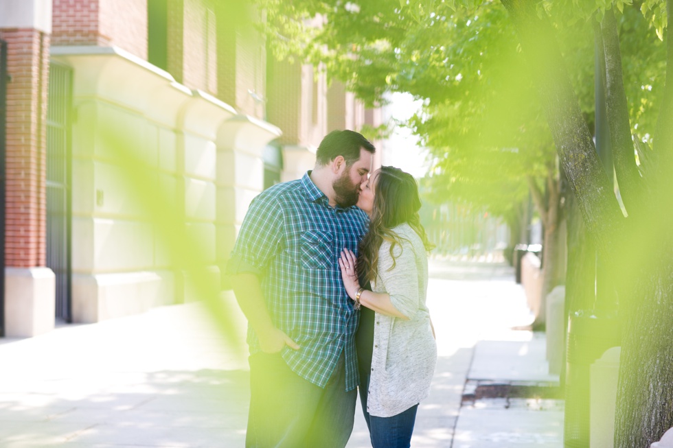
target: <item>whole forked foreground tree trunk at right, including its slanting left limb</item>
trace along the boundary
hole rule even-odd
[[[639,207],[643,213],[624,220],[611,182],[598,160],[591,134],[565,73],[551,25],[537,15],[536,2],[501,0],[521,37],[536,89],[559,158],[586,230],[609,262],[619,290],[622,349],[615,447],[648,448],[673,426],[673,236],[670,222],[673,193],[673,86],[667,74],[661,108],[657,174],[651,191],[658,196]],[[672,20],[673,0],[668,0]],[[673,67],[670,27],[669,69]],[[623,131],[622,131],[623,132]],[[658,132],[659,133],[659,132]],[[657,145],[660,145],[657,148]],[[569,255],[569,258],[570,255]],[[569,266],[571,275],[571,266]]]

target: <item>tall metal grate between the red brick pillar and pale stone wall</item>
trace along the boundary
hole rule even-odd
[[[49,65],[47,107],[47,267],[56,275],[56,317],[72,321],[70,109],[72,70]]]

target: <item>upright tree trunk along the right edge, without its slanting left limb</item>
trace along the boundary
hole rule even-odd
[[[666,83],[654,138],[656,165],[632,260],[623,323],[615,448],[647,448],[673,427],[673,0],[668,0]],[[637,238],[637,239],[636,239]]]

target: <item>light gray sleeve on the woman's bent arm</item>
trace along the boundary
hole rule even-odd
[[[400,313],[413,318],[418,311],[418,268],[411,241],[401,237],[401,246],[393,247],[395,266],[390,255],[389,241],[383,241],[378,250],[378,276],[390,301]]]

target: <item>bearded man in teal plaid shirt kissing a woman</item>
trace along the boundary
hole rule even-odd
[[[358,312],[339,254],[356,251],[367,217],[354,207],[374,145],[330,132],[315,168],[250,205],[227,272],[248,318],[247,447],[344,447],[358,384]]]

